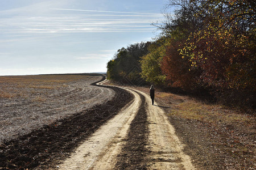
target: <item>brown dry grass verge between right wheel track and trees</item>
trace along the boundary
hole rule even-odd
[[[180,121],[177,133],[193,148],[188,152],[202,169],[254,169],[255,116],[186,96],[159,92],[158,97],[160,103],[171,107],[168,116]]]

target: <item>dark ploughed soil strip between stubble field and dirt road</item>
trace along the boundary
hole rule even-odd
[[[96,83],[93,83],[94,85]],[[97,85],[96,85],[97,86]],[[0,145],[1,169],[48,169],[53,160],[66,158],[80,141],[112,118],[132,99],[132,95],[117,87],[112,100],[88,111],[63,118],[53,124]]]

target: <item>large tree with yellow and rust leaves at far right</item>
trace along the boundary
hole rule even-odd
[[[200,67],[201,86],[219,99],[253,105],[255,99],[255,2],[205,0],[195,3],[201,27],[191,32],[180,54]],[[236,100],[236,101],[234,101]]]

